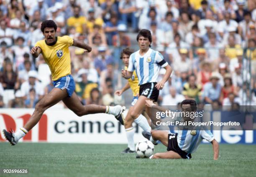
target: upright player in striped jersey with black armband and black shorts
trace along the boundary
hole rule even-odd
[[[122,70],[122,77],[125,79],[130,79],[135,70],[138,76],[138,85],[140,86],[138,100],[135,105],[129,109],[125,117],[125,122],[126,120],[135,121],[144,110],[149,113],[149,109],[146,108],[146,100],[151,100],[157,104],[159,90],[163,89],[165,82],[172,73],[172,67],[164,60],[161,53],[150,48],[152,37],[149,30],[141,30],[137,35],[137,41],[140,49],[131,54],[128,70]],[[156,80],[161,67],[164,67],[166,72],[162,80],[157,83]],[[148,124],[145,119],[140,119],[137,123],[145,126]],[[126,130],[129,130],[129,128],[132,129],[131,123],[125,125]]]

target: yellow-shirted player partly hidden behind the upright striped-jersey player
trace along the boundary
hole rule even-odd
[[[133,53],[133,50],[127,47],[120,54],[120,59],[123,61],[123,64],[125,65],[125,70],[127,70],[128,68],[129,57],[132,53]],[[136,101],[138,100],[139,90],[140,90],[138,76],[136,75],[135,71],[133,71],[133,75],[130,79],[128,79],[128,82],[126,83],[126,85],[121,90],[115,91],[115,94],[120,96],[125,90],[128,90],[129,88],[131,88],[133,92],[133,102],[131,103],[131,105],[134,106]],[[132,109],[132,107],[130,109]],[[135,152],[134,129],[132,125],[133,122],[136,122],[144,131],[148,131],[148,132],[151,131],[151,127],[149,126],[146,117],[148,118],[148,120],[150,120],[150,118],[144,111],[142,115],[139,115],[138,117],[136,117],[136,119],[132,119],[131,117],[125,118],[124,126],[125,126],[126,137],[128,140],[128,147],[122,153]]]

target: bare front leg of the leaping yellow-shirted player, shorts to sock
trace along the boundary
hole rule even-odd
[[[51,92],[47,95],[45,95],[37,104],[35,107],[35,110],[31,116],[31,118],[28,120],[24,128],[29,131],[31,130],[37,122],[41,119],[41,116],[43,115],[44,111],[47,110],[49,107],[55,105],[60,100],[67,97],[67,90],[61,90],[59,88],[53,88]]]

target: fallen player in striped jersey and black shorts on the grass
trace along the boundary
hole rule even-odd
[[[181,102],[181,108],[184,112],[195,112],[197,103],[195,100],[183,100]],[[146,101],[147,107],[159,107],[156,106],[152,101]],[[159,109],[161,110],[161,109]],[[195,121],[190,117],[182,117],[183,121]],[[184,127],[184,129],[189,127]],[[182,129],[182,128],[179,128]],[[151,134],[143,132],[143,136],[151,142],[156,143],[157,140],[161,141],[163,145],[167,147],[167,152],[156,153],[150,158],[152,159],[190,159],[191,154],[194,153],[203,139],[212,143],[213,159],[218,160],[219,156],[219,144],[214,139],[212,133],[209,130],[178,130],[176,134],[169,134],[168,131],[164,130],[152,130]]]

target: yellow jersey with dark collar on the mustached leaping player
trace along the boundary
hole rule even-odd
[[[58,80],[71,73],[69,46],[73,45],[73,38],[69,36],[56,37],[54,45],[47,45],[45,40],[39,40],[35,46],[41,48],[44,60],[51,70],[52,80]]]

